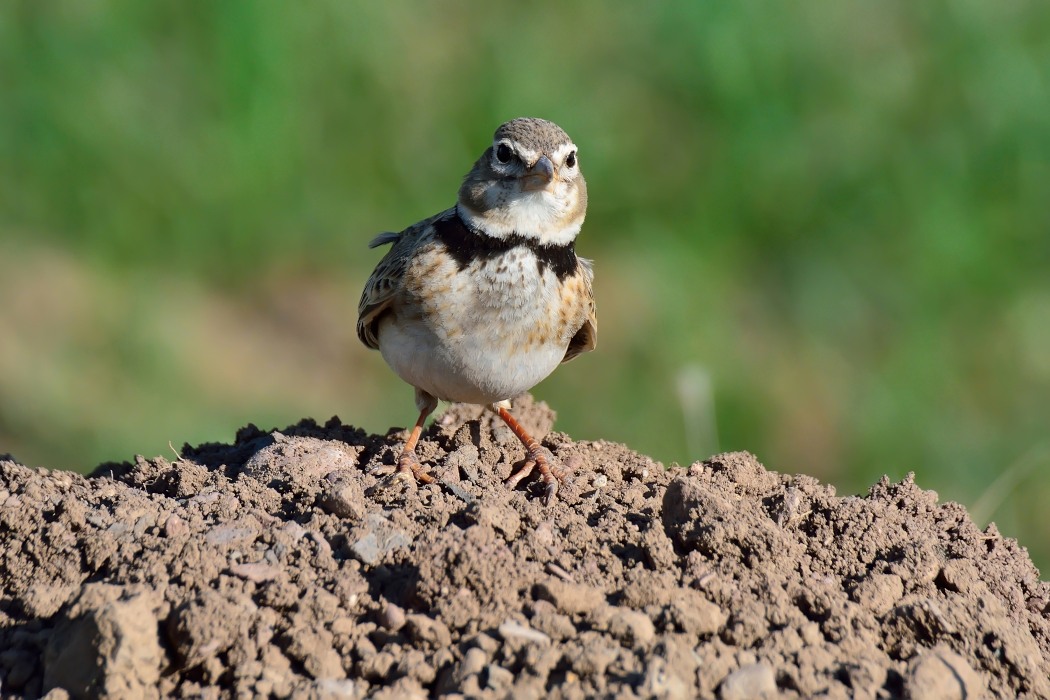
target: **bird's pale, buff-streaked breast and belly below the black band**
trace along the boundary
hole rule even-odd
[[[381,330],[386,340],[399,336],[380,338],[384,358],[438,398],[478,403],[508,399],[553,372],[589,302],[581,271],[559,275],[525,246],[461,264],[429,245],[408,266],[403,292]]]

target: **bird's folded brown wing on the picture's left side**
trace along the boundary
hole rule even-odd
[[[357,304],[357,337],[372,349],[379,349],[379,319],[400,291],[408,262],[426,234],[433,232],[435,219],[446,214],[423,219],[401,233],[380,233],[369,243],[369,248],[394,243],[369,277]]]

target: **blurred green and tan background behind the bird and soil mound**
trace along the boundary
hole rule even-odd
[[[1050,565],[1045,2],[4,3],[0,452],[411,424],[365,243],[519,115],[590,190],[559,429],[914,470]]]

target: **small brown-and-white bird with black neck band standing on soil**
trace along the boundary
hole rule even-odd
[[[597,340],[591,260],[575,253],[587,214],[580,149],[553,122],[501,124],[456,205],[400,233],[358,304],[357,335],[415,388],[419,418],[391,478],[429,484],[416,445],[438,401],[490,407],[522,442],[513,489],[533,471],[543,502],[564,473],[510,413],[510,399]]]

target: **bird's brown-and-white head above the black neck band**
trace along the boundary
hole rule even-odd
[[[496,238],[518,234],[543,245],[571,242],[587,213],[578,150],[553,122],[521,118],[502,124],[463,179],[460,216],[471,230]]]

